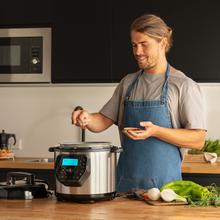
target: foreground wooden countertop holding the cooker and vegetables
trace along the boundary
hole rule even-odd
[[[152,206],[143,201],[115,198],[93,204],[59,202],[55,198],[0,200],[4,220],[199,220],[219,219],[220,208]]]

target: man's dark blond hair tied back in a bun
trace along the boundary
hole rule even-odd
[[[158,42],[167,38],[165,51],[168,52],[172,46],[172,29],[158,16],[146,14],[136,18],[130,26],[130,31],[144,33]]]

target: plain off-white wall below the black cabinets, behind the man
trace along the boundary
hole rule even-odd
[[[80,129],[71,124],[75,106],[98,111],[115,87],[116,84],[2,85],[0,129],[16,134],[16,146],[22,146],[22,150],[14,150],[16,156],[53,157],[48,152],[50,146],[80,140]],[[220,84],[201,84],[201,87],[207,103],[207,137],[220,138]],[[116,126],[99,134],[87,131],[86,140],[120,145]]]

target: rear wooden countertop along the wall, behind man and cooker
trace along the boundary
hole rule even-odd
[[[15,158],[15,160],[0,160],[0,168],[10,169],[49,169],[54,168],[53,162],[29,162],[35,158]],[[183,162],[183,173],[220,174],[220,162]]]

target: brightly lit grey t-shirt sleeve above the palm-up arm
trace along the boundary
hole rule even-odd
[[[193,80],[183,85],[179,110],[182,127],[207,130],[204,94]]]

